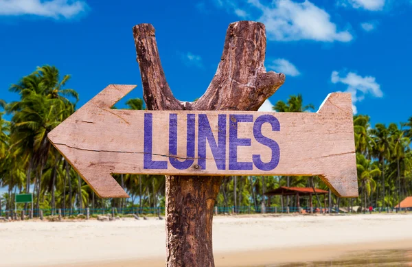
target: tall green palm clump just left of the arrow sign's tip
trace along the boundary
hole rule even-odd
[[[74,103],[65,96],[78,100],[76,91],[62,89],[69,76],[61,82],[55,67],[38,67],[29,76],[23,77],[18,84],[12,84],[10,91],[21,95],[19,102],[8,105],[8,113],[12,113],[11,138],[22,156],[29,159],[27,166],[26,192],[30,191],[32,170],[36,171],[34,189],[37,191],[36,208],[41,197],[41,179],[47,164],[51,145],[47,134],[74,111]],[[55,161],[55,165],[59,161]],[[37,166],[34,168],[34,166]],[[52,205],[54,202],[56,166],[52,181]],[[43,190],[43,192],[45,192]],[[43,193],[44,194],[44,193]],[[44,198],[44,195],[43,195]]]

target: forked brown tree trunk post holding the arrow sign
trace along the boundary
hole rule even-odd
[[[262,23],[231,23],[216,75],[205,94],[188,103],[176,100],[166,82],[155,28],[133,27],[148,110],[258,111],[285,80],[265,71],[264,31]],[[167,266],[214,266],[211,223],[221,182],[221,176],[166,176]]]

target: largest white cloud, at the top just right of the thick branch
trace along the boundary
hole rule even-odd
[[[233,0],[215,0],[215,3],[216,6],[226,8],[231,12],[235,12],[235,14],[236,10],[239,9],[239,5],[244,5],[249,14],[252,10],[259,12],[258,15],[249,15],[249,17],[264,23],[269,40],[349,42],[353,38],[347,30],[337,30],[336,24],[330,21],[330,14],[308,0],[304,2],[273,0],[272,3],[268,4],[262,4],[260,0],[237,2]],[[242,14],[238,14],[238,16],[240,15]]]

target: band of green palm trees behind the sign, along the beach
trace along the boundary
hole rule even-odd
[[[53,66],[37,67],[10,87],[10,91],[19,94],[19,101],[5,103],[0,100],[0,187],[7,189],[0,196],[1,209],[13,209],[14,195],[29,192],[34,193],[35,209],[51,210],[52,218],[56,218],[56,209],[64,209],[66,217],[76,219],[79,217],[74,216],[78,213],[74,209],[86,207],[104,209],[104,213],[110,214],[111,207],[116,207],[117,211],[140,207],[150,216],[154,213],[150,207],[165,207],[165,176],[115,175],[130,198],[101,199],[50,145],[47,133],[76,111],[79,95],[75,90],[67,89],[70,78],[65,75],[60,79],[58,69]],[[128,100],[126,105],[129,109],[145,108],[144,101],[139,98]],[[305,112],[313,110],[314,106],[304,105],[302,95],[291,95],[286,102],[277,102],[273,109]],[[3,119],[5,113],[12,115],[11,121]],[[393,207],[404,196],[411,196],[411,128],[412,117],[400,127],[397,124],[371,127],[369,116],[355,115],[360,194],[354,200],[341,201],[332,196],[332,205]],[[226,176],[216,205],[227,211],[236,206],[240,212],[246,212],[249,207],[252,211],[258,210],[262,202],[266,207],[282,207],[279,196],[268,198],[264,192],[287,185],[328,189],[317,176]],[[324,205],[327,198],[327,195],[314,197],[314,206]],[[284,206],[296,204],[294,197],[283,201]],[[301,206],[308,205],[308,199],[301,199]]]

